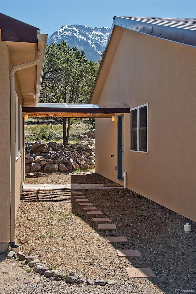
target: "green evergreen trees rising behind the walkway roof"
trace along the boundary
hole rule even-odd
[[[65,41],[47,46],[40,102],[89,103],[99,64]],[[63,144],[69,139],[70,118],[63,118]]]

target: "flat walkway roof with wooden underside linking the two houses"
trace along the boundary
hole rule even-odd
[[[66,104],[37,103],[35,106],[23,106],[22,111],[29,117],[105,117],[110,118],[121,113],[129,113],[126,104]]]

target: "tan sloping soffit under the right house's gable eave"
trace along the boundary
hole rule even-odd
[[[115,52],[119,46],[120,39],[123,35],[124,28],[118,29],[114,22],[111,27],[111,32],[105,47],[104,55],[101,59],[100,67],[96,76],[96,80],[92,89],[90,103],[97,103],[99,96],[104,87],[107,74],[111,67]]]

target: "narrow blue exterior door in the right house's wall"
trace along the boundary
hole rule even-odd
[[[123,173],[124,173],[124,115],[118,116],[118,142],[117,142],[117,171],[118,179],[124,182]]]

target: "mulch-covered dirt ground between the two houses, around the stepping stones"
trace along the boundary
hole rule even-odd
[[[48,175],[25,184],[112,183],[96,173]],[[196,292],[196,224],[128,189],[84,189],[103,216],[87,215],[71,190],[23,190],[16,219],[16,243],[47,266],[116,285],[72,285],[50,281],[25,262],[1,256],[1,294],[188,293]],[[117,230],[98,230],[93,217],[109,217]],[[184,224],[192,226],[184,232]],[[107,243],[124,236],[128,243]],[[116,249],[139,250],[141,258],[118,257]],[[150,267],[156,278],[130,279],[125,268]],[[24,281],[28,281],[25,284]],[[183,291],[183,292],[182,292]]]

